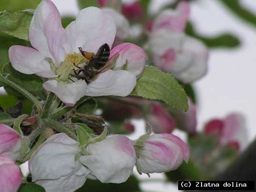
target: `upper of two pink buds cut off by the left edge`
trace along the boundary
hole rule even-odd
[[[16,160],[20,147],[20,135],[13,128],[0,124],[0,155]]]

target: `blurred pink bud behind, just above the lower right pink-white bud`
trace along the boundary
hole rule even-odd
[[[147,122],[155,133],[171,133],[176,127],[173,117],[159,104],[152,105],[151,114],[148,115]]]

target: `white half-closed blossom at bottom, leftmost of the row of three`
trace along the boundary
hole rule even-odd
[[[79,143],[64,133],[47,139],[31,156],[32,181],[46,192],[75,192],[83,186],[88,170],[77,159]]]

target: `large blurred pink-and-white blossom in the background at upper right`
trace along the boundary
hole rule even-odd
[[[153,21],[149,47],[153,61],[161,70],[171,72],[183,83],[192,83],[207,72],[207,47],[183,34],[189,4],[181,2],[176,10],[166,10]]]

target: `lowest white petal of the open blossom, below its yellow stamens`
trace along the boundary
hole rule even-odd
[[[86,83],[84,80],[77,80],[74,83],[58,82],[49,80],[43,83],[43,88],[56,94],[60,100],[69,106],[75,105],[81,97],[85,96]]]

